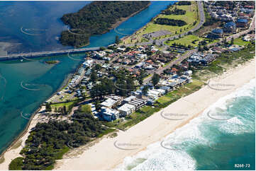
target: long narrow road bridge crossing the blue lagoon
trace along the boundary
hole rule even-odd
[[[6,56],[0,56],[0,61],[15,60],[26,58],[36,58],[36,57],[49,57],[59,54],[67,53],[79,53],[79,52],[89,52],[94,50],[99,50],[100,47],[89,47],[81,49],[64,49],[64,50],[55,50],[55,51],[45,51],[45,52],[30,52],[30,53],[21,53],[21,54],[9,54]]]

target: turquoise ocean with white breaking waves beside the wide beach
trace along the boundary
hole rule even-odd
[[[255,170],[255,79],[118,169]]]

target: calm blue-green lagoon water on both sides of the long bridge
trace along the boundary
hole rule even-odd
[[[113,44],[116,35],[123,37],[133,33],[170,3],[174,1],[152,1],[149,8],[123,22],[116,31],[91,37],[89,47]],[[7,49],[8,53],[72,48],[57,41],[61,31],[67,29],[60,17],[78,11],[86,4],[89,1],[1,1],[0,50],[1,42],[13,45]],[[37,35],[27,35],[21,28],[26,33]],[[84,54],[77,57],[82,58]],[[43,61],[48,59],[57,59],[60,63],[44,64]],[[21,113],[29,118],[78,65],[79,61],[66,55],[35,61],[0,62],[0,153],[28,124],[28,119],[21,117]]]

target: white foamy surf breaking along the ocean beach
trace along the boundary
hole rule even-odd
[[[176,129],[162,141],[152,143],[145,151],[135,156],[129,156],[118,166],[118,170],[195,170],[196,160],[188,151],[195,146],[209,146],[213,144],[220,132],[223,134],[240,134],[243,132],[255,132],[255,105],[243,108],[243,100],[255,102],[255,79],[243,87],[238,88],[230,95],[219,99],[208,107],[199,117],[192,119],[189,124]],[[242,106],[240,103],[242,103]],[[253,103],[252,103],[253,104]],[[241,110],[235,112],[236,110]],[[229,114],[228,119],[215,120],[208,117],[208,112],[224,112]],[[166,149],[161,142],[172,144],[172,148]],[[215,163],[211,163],[217,167]]]

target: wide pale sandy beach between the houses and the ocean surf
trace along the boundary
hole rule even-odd
[[[186,113],[189,116],[181,121],[170,121],[160,117],[160,112],[155,112],[147,119],[130,127],[127,131],[118,132],[115,138],[104,138],[86,151],[83,151],[78,158],[57,160],[55,170],[113,170],[123,163],[123,159],[144,151],[148,145],[161,141],[176,129],[189,123],[191,119],[198,117],[204,110],[210,107],[218,99],[232,93],[242,87],[245,83],[255,78],[255,59],[235,68],[228,69],[221,76],[213,77],[212,81],[223,83],[233,83],[235,86],[230,90],[213,90],[209,86],[204,86],[198,91],[180,98],[160,112]],[[249,74],[250,73],[250,74]],[[245,75],[244,75],[245,74]],[[208,100],[204,100],[205,95]],[[186,106],[186,107],[184,107]],[[143,130],[143,131],[142,131]],[[122,143],[140,144],[134,151],[122,151],[113,144],[118,141]],[[108,147],[108,148],[106,148]],[[108,156],[103,155],[107,153]],[[111,156],[111,157],[110,157]],[[90,158],[90,161],[87,159]],[[82,164],[81,164],[82,163]]]

